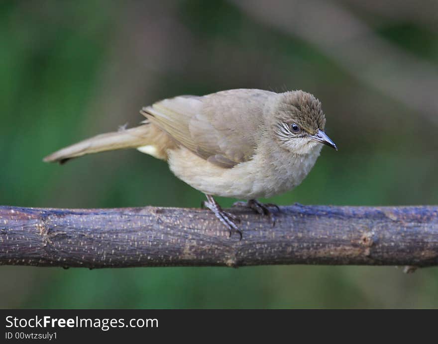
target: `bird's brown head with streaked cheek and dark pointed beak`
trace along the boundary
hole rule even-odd
[[[324,132],[321,102],[312,94],[301,90],[281,93],[273,111],[271,128],[283,148],[295,154],[309,154],[321,144],[337,150]]]

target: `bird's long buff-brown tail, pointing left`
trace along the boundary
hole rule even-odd
[[[149,144],[149,131],[150,124],[147,123],[131,129],[121,129],[116,132],[97,135],[52,153],[45,157],[43,161],[63,164],[70,159],[86,154],[142,147]]]

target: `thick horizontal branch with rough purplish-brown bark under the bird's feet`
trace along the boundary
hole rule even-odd
[[[127,267],[438,264],[438,207],[231,209],[243,239],[208,210],[0,207],[0,264]]]

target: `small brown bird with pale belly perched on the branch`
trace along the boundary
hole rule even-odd
[[[213,196],[246,202],[261,215],[275,216],[269,198],[299,185],[311,171],[323,145],[337,146],[325,133],[320,100],[303,90],[277,93],[238,88],[203,96],[180,95],[145,106],[137,127],[94,136],[43,159],[59,162],[103,151],[137,149],[167,161],[181,180],[203,192],[210,209],[237,233],[239,219]]]

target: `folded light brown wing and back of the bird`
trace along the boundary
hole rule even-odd
[[[234,89],[205,96],[178,96],[142,113],[178,143],[224,168],[251,159],[271,92]]]

